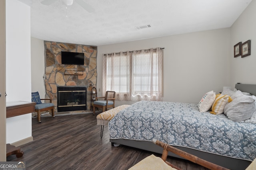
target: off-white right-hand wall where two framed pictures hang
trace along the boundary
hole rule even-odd
[[[230,83],[256,84],[256,0],[248,5],[231,27],[230,36]],[[234,58],[234,45],[251,40],[251,55]]]

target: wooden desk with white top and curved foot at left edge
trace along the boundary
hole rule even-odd
[[[6,102],[6,118],[32,113],[35,111],[35,105],[36,102]],[[6,157],[11,154],[16,154],[16,157],[20,158],[24,152],[20,151],[20,147],[6,144]]]

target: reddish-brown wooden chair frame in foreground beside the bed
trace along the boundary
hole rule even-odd
[[[158,141],[156,139],[153,139],[152,142],[164,149],[163,152],[162,152],[162,160],[164,160],[164,162],[166,162],[166,164],[168,164],[169,166],[172,166],[173,168],[176,168],[177,170],[182,170],[182,169],[180,169],[177,166],[175,166],[175,165],[171,164],[170,162],[166,161],[166,158],[168,156],[168,151],[173,152],[174,154],[177,154],[177,155],[181,156],[182,158],[190,160],[191,162],[194,162],[196,164],[199,164],[199,165],[204,166],[205,168],[208,168],[208,169],[211,169],[211,170],[228,170],[227,168],[224,168],[222,166],[218,166],[216,164],[213,164],[211,162],[208,162],[206,160],[198,158],[197,156],[194,156],[192,154],[184,152],[180,149],[172,147],[172,146],[170,146],[166,143],[163,143],[161,141]]]

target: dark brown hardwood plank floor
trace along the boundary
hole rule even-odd
[[[32,118],[33,141],[20,146],[24,155],[7,157],[7,161],[25,161],[27,170],[127,170],[140,160],[154,154],[120,145],[112,147],[108,127],[100,139],[96,115],[77,114]],[[206,170],[192,162],[171,158],[172,164],[184,170]]]

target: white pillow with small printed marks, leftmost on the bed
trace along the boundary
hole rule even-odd
[[[215,95],[215,92],[213,92],[213,90],[210,92],[207,92],[202,97],[201,101],[198,104],[199,111],[200,112],[208,111],[212,107],[212,103],[214,102],[215,97],[216,97],[216,95]]]

